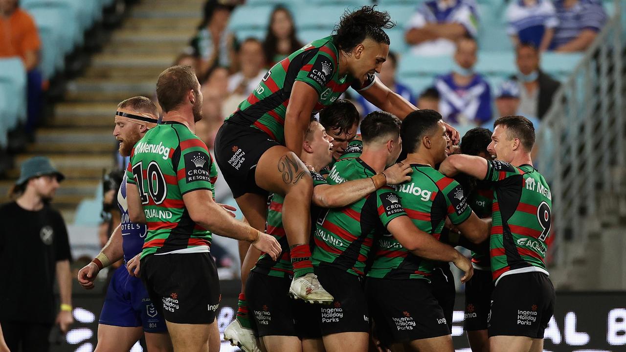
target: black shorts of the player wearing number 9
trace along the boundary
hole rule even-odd
[[[554,286],[543,272],[501,277],[491,294],[489,336],[542,339],[554,313],[554,303]]]

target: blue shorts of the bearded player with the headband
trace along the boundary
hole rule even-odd
[[[125,265],[113,272],[99,323],[133,328],[143,326],[146,333],[167,331],[165,319],[156,313],[143,282],[130,276]]]

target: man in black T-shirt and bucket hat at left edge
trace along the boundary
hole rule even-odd
[[[30,158],[11,190],[13,201],[0,205],[0,324],[11,351],[48,351],[53,324],[66,332],[73,323],[68,234],[49,205],[63,179],[48,158]]]

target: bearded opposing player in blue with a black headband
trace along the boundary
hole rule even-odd
[[[113,135],[120,141],[123,157],[130,155],[135,143],[148,129],[156,126],[157,116],[156,106],[144,96],[135,96],[118,105]],[[78,282],[85,289],[93,289],[93,281],[103,268],[122,258],[126,264],[143,247],[146,225],[135,224],[128,218],[126,175],[118,192],[118,205],[120,225],[100,254],[78,272]],[[142,335],[145,336],[148,352],[173,350],[165,319],[156,313],[141,279],[130,276],[124,265],[113,273],[106,291],[98,324],[96,351],[128,351]]]

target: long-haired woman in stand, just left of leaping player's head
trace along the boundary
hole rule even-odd
[[[277,6],[270,16],[267,35],[263,42],[265,58],[272,67],[289,54],[302,48],[303,44],[295,34],[294,18],[287,8]]]

